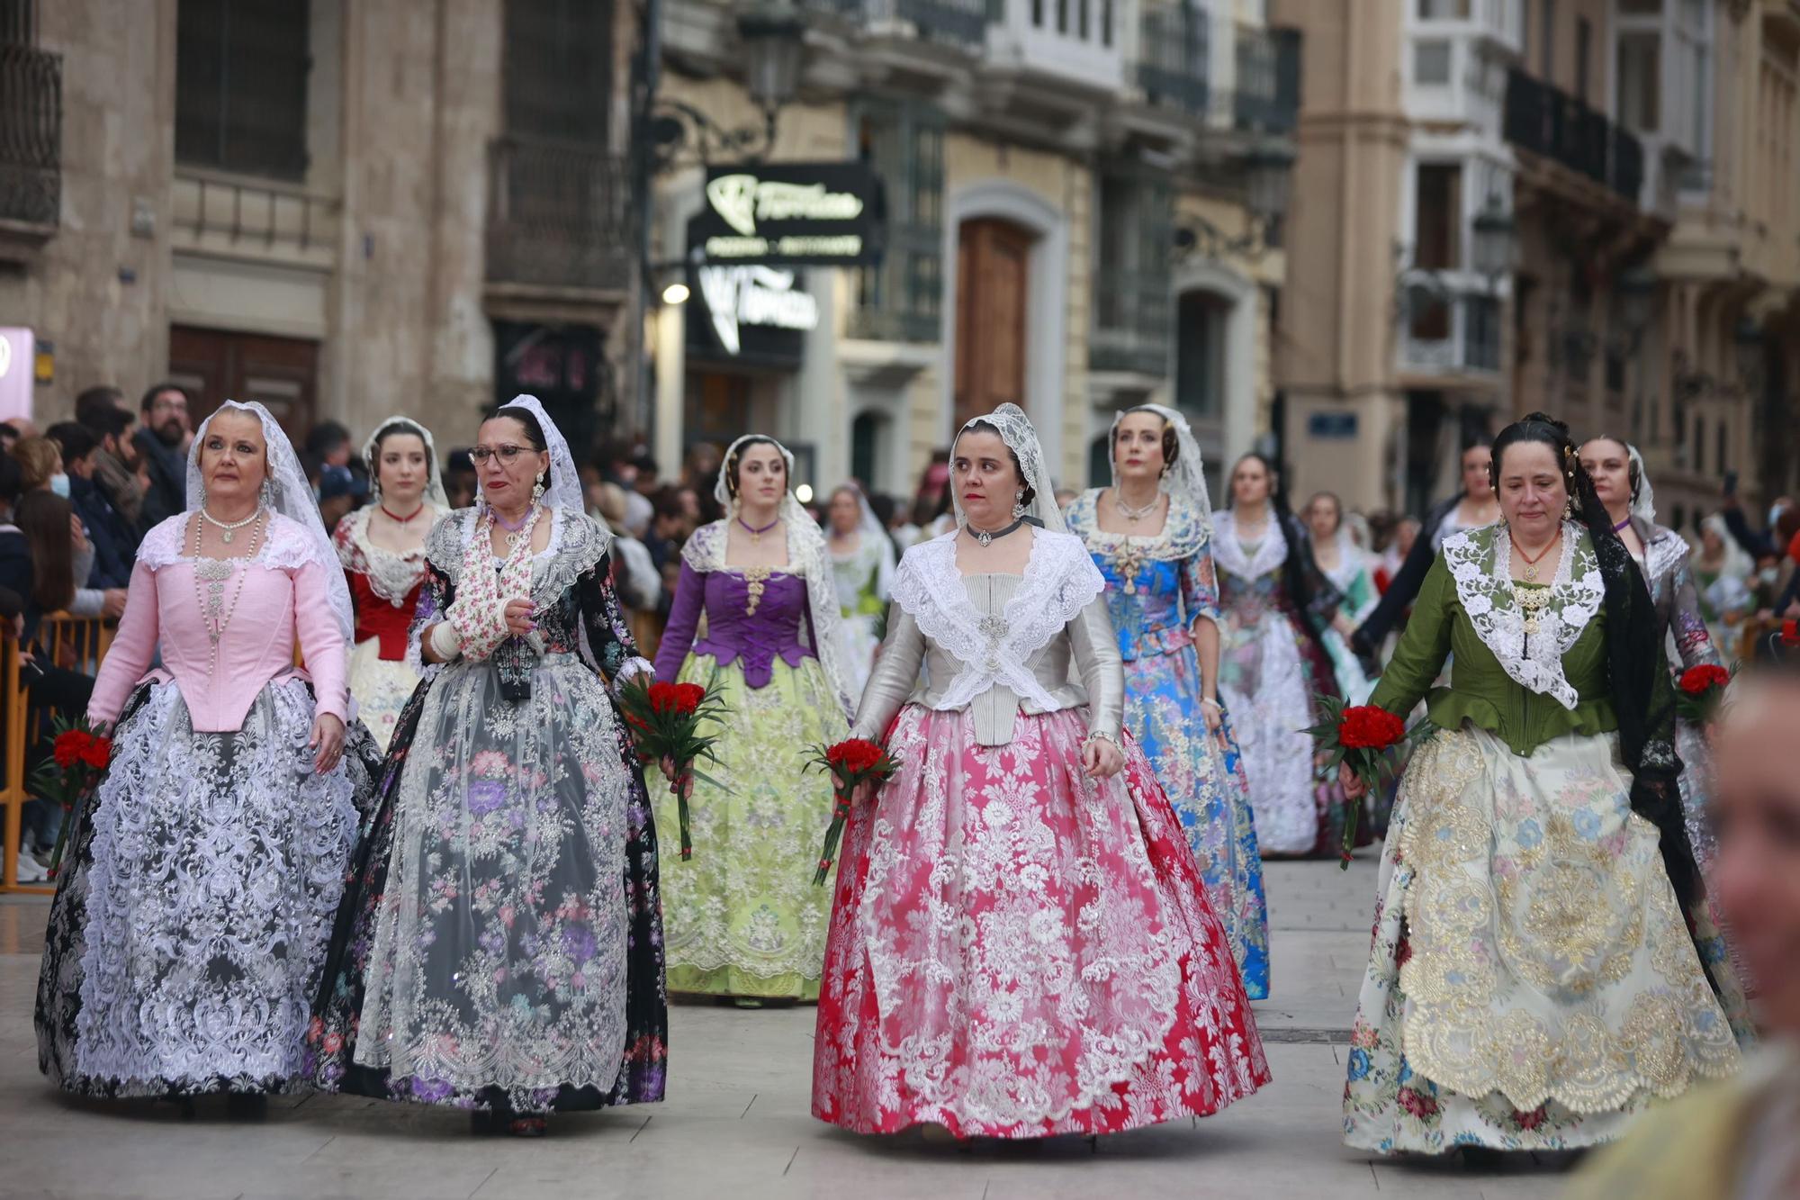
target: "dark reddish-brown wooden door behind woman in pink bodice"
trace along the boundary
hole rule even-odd
[[[256,400],[299,447],[317,413],[319,342],[171,324],[169,377],[187,387],[196,429],[225,400]]]

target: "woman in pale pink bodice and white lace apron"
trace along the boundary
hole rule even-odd
[[[88,706],[113,760],[77,816],[38,980],[38,1061],[65,1090],[256,1108],[297,1077],[380,762],[346,724],[347,647],[349,593],[293,447],[261,405],[227,402],[189,452],[187,512],[139,550]]]

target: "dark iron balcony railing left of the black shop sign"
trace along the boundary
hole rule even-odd
[[[630,166],[578,142],[488,146],[488,281],[625,290],[637,256]]]

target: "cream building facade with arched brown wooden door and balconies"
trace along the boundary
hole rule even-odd
[[[756,124],[734,14],[668,0],[661,27],[661,103],[727,133]],[[758,429],[815,488],[911,495],[967,416],[1008,400],[1066,486],[1105,479],[1120,405],[1186,409],[1215,470],[1267,429],[1283,252],[1249,180],[1289,144],[1300,59],[1264,4],[810,0],[803,16],[797,94],[756,159],[869,164],[886,256],[747,281],[810,297],[787,301],[808,328],[760,353],[718,337],[702,286],[655,306],[664,468]],[[657,175],[653,295],[691,283],[702,168],[677,155]]]

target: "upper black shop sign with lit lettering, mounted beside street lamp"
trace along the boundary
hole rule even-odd
[[[866,162],[715,166],[695,245],[722,267],[868,267],[880,261],[886,218]]]

